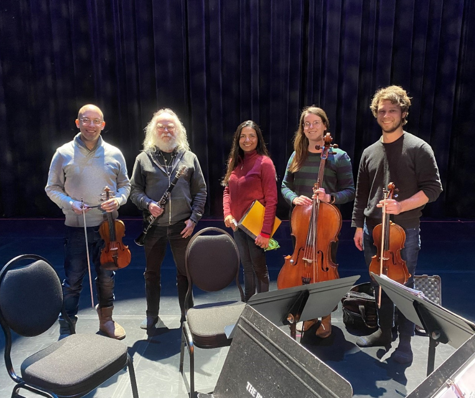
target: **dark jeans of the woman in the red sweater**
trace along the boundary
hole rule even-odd
[[[244,300],[247,302],[256,292],[269,291],[269,273],[265,251],[254,239],[241,229],[234,231],[234,240],[244,268]]]

